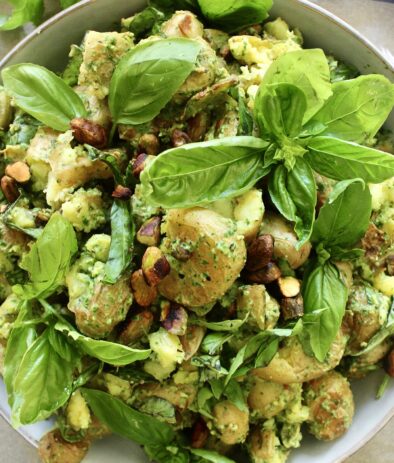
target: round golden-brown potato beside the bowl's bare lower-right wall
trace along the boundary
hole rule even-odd
[[[320,440],[336,439],[349,428],[354,415],[353,394],[347,379],[336,371],[306,386],[309,430]]]

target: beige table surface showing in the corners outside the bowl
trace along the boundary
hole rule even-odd
[[[0,0],[0,13],[2,3]],[[394,0],[315,0],[315,3],[337,14],[372,42],[394,54]],[[49,14],[56,10],[55,4],[54,0],[48,1]],[[23,30],[0,32],[0,57],[24,34]],[[0,418],[0,463],[38,462],[36,450]],[[394,419],[346,463],[394,463]]]

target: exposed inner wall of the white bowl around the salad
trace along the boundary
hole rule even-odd
[[[34,62],[52,70],[60,70],[67,61],[71,44],[79,43],[86,30],[106,31],[120,18],[127,17],[145,5],[144,0],[84,0],[59,13],[22,40],[0,62],[0,68],[14,63]],[[273,17],[281,16],[298,27],[307,47],[320,47],[339,59],[356,66],[361,73],[380,73],[394,78],[393,64],[384,54],[351,26],[328,11],[306,0],[275,0]],[[387,122],[394,131],[394,114]],[[300,449],[293,451],[289,463],[339,463],[370,439],[394,415],[394,384],[375,400],[375,391],[382,374],[377,372],[352,389],[356,414],[349,431],[331,443],[318,442],[309,436]],[[8,419],[9,408],[4,385],[0,382],[0,413]],[[51,426],[50,422],[25,426],[19,431],[33,445]],[[86,463],[146,463],[141,449],[124,439],[111,437],[94,444]],[[170,463],[170,462],[169,462]]]

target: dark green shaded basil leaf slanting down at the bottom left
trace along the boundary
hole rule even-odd
[[[106,392],[82,389],[84,398],[97,418],[112,432],[146,446],[167,446],[175,431],[149,415],[140,413]]]

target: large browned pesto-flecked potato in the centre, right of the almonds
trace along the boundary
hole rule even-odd
[[[171,272],[159,284],[166,299],[186,307],[199,307],[223,296],[239,276],[246,261],[246,247],[235,223],[209,209],[173,209],[166,219],[167,237],[162,250]],[[171,257],[176,243],[187,243],[186,261]]]

